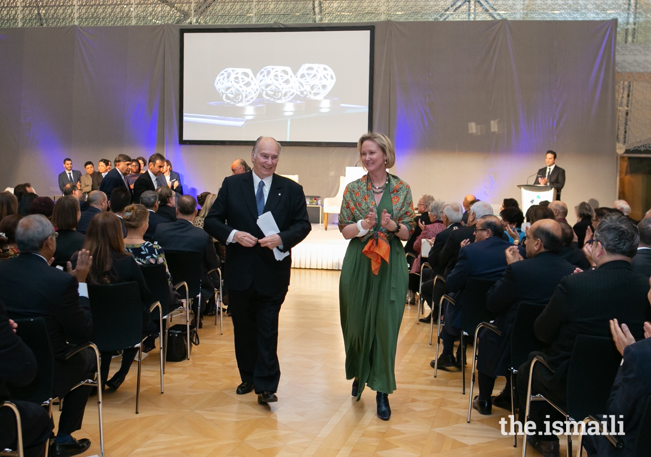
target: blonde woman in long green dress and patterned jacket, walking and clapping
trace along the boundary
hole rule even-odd
[[[349,239],[339,280],[339,311],[352,395],[368,385],[377,392],[378,417],[391,417],[395,358],[409,269],[400,240],[413,232],[409,185],[387,173],[395,163],[391,140],[367,133],[357,142],[368,174],[346,186],[339,229]]]

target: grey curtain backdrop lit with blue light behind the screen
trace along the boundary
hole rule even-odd
[[[519,200],[516,185],[552,149],[571,223],[582,200],[615,200],[615,20],[374,25],[374,129],[395,140],[393,172],[415,198]],[[248,146],[178,144],[179,29],[0,29],[0,187],[55,195],[64,157],[83,172],[87,160],[159,152],[196,194],[216,192],[234,159],[250,163]],[[286,147],[277,172],[333,196],[357,159]]]

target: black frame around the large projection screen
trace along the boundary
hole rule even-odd
[[[368,31],[369,56],[368,56],[368,126],[367,131],[372,131],[373,125],[373,68],[375,49],[375,25],[342,25],[326,27],[192,27],[179,29],[179,90],[178,90],[178,144],[225,144],[249,145],[255,144],[255,139],[241,140],[184,140],[183,139],[183,75],[184,75],[184,38],[186,33],[243,33],[243,32],[326,32],[326,31]],[[286,146],[329,146],[350,147],[357,146],[357,142],[337,141],[281,141]]]

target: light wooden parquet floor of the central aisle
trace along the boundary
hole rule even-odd
[[[104,395],[105,455],[122,456],[518,456],[499,418],[473,414],[461,373],[439,371],[430,360],[429,326],[406,309],[396,356],[398,389],[389,396],[393,415],[376,416],[375,394],[359,402],[344,374],[339,322],[339,271],[292,270],[280,315],[279,402],[262,406],[255,393],[236,395],[240,383],[232,323],[224,334],[204,319],[201,345],[190,361],[167,363],[159,391],[158,348],[143,360],[140,413],[135,414],[134,363],[118,391]],[[435,340],[436,344],[436,340]],[[470,348],[469,348],[470,349]],[[469,350],[470,353],[470,350]],[[115,372],[119,359],[114,359]],[[467,368],[469,378],[470,367]],[[499,381],[498,381],[499,383]],[[498,384],[496,389],[501,389]],[[97,408],[91,397],[76,437],[90,437],[87,456],[99,454]],[[56,423],[55,417],[55,423]],[[529,448],[528,455],[537,453]]]

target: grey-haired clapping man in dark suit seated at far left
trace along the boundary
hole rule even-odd
[[[20,255],[0,262],[0,300],[10,319],[42,317],[46,321],[54,352],[53,394],[63,400],[50,455],[81,454],[90,447],[90,440],[77,441],[72,433],[81,428],[90,385],[73,387],[94,379],[95,352],[86,348],[68,359],[65,356],[73,345],[89,341],[92,333],[85,284],[92,261],[87,251],[81,251],[76,269],[63,272],[50,267],[46,259],[54,256],[57,239],[51,222],[42,215],[20,220],[16,242]]]

